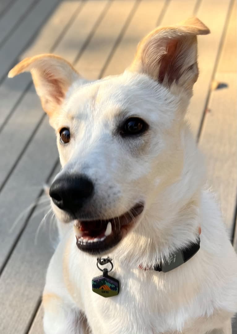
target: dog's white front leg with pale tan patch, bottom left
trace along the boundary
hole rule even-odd
[[[45,334],[89,334],[84,314],[56,294],[45,293],[43,306]]]

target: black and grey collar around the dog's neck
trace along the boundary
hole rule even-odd
[[[198,229],[199,235],[201,234],[201,227]],[[188,260],[190,260],[200,249],[200,237],[198,238],[198,241],[196,243],[192,243],[189,246],[185,248],[178,249],[177,252],[173,253],[169,259],[165,260],[163,263],[160,263],[153,268],[146,267],[144,268],[142,265],[139,266],[142,270],[155,270],[163,273],[167,273]]]

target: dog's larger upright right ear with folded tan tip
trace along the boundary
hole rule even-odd
[[[128,70],[146,73],[166,87],[176,82],[192,90],[198,77],[197,35],[209,32],[198,18],[157,28],[138,44]]]

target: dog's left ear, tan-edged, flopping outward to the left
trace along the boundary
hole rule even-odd
[[[8,77],[28,71],[31,72],[42,107],[49,116],[63,103],[73,81],[80,78],[69,62],[54,54],[25,58],[10,70]]]

